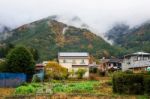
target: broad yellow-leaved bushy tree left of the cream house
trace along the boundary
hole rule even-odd
[[[45,66],[45,76],[47,79],[65,79],[68,77],[66,68],[59,65],[57,62],[51,61]]]

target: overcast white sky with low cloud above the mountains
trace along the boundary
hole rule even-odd
[[[18,27],[51,15],[78,16],[99,33],[150,19],[150,0],[0,0],[0,24]]]

